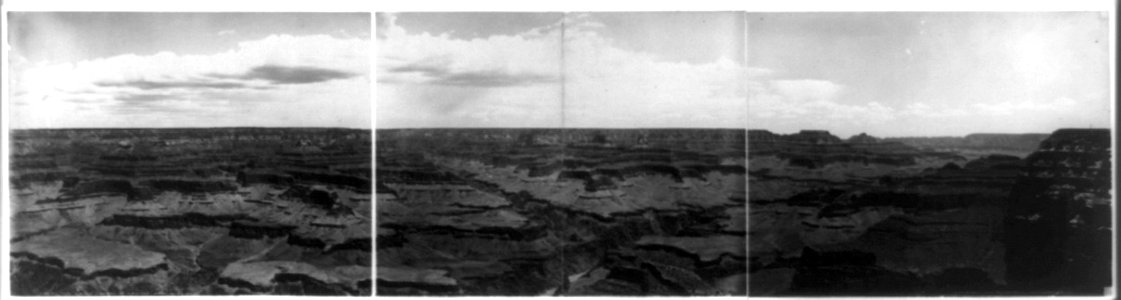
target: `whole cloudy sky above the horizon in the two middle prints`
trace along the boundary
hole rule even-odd
[[[742,12],[377,16],[378,128],[743,128]]]

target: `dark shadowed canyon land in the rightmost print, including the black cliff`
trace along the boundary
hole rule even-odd
[[[752,130],[748,142],[752,296],[1090,296],[1111,284],[1109,130]]]

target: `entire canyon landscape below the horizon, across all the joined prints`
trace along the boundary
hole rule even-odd
[[[1090,296],[1111,283],[1109,130],[372,133],[12,131],[12,294]]]

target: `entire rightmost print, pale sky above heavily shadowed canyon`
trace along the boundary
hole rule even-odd
[[[749,13],[751,294],[1104,294],[1108,24]]]

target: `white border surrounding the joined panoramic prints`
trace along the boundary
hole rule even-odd
[[[1113,118],[1113,137],[1112,143],[1112,163],[1113,163],[1113,188],[1112,190],[1117,193],[1117,141],[1118,141],[1118,123],[1117,123],[1117,1],[1110,0],[1066,0],[1066,1],[995,1],[995,0],[952,0],[952,1],[920,1],[920,2],[907,2],[900,3],[899,1],[828,1],[828,0],[798,0],[798,1],[758,1],[758,2],[740,2],[730,4],[728,2],[716,2],[716,1],[691,1],[688,3],[682,3],[679,1],[657,1],[652,3],[643,2],[641,4],[637,2],[613,2],[604,3],[602,0],[569,0],[569,1],[552,1],[544,3],[529,3],[528,1],[472,1],[472,2],[461,2],[461,1],[392,1],[392,2],[376,2],[376,1],[341,1],[341,0],[319,0],[319,1],[281,1],[281,2],[269,2],[268,4],[261,4],[260,2],[250,1],[221,1],[221,0],[201,0],[201,1],[174,1],[174,2],[157,2],[157,1],[136,1],[136,0],[109,0],[109,1],[80,1],[80,0],[7,0],[2,3],[2,11],[0,11],[0,21],[4,24],[2,34],[0,34],[0,40],[4,43],[2,63],[4,67],[0,71],[0,87],[2,87],[3,93],[0,93],[2,97],[2,103],[0,103],[0,149],[2,149],[2,156],[0,156],[0,195],[2,195],[2,203],[0,205],[0,215],[4,216],[4,219],[0,223],[0,297],[10,297],[9,288],[9,265],[10,255],[7,253],[10,246],[10,207],[9,207],[9,188],[10,182],[8,180],[9,176],[9,118],[10,114],[10,103],[8,99],[9,91],[9,69],[7,67],[8,63],[8,50],[10,47],[7,46],[8,43],[8,11],[197,11],[197,12],[210,12],[210,11],[317,11],[317,12],[332,12],[332,11],[358,11],[358,12],[370,12],[371,13],[371,39],[377,44],[377,20],[376,13],[382,11],[751,11],[751,12],[816,12],[816,11],[1108,11],[1109,12],[1109,24],[1110,24],[1110,76],[1112,78],[1110,97],[1112,103],[1112,118]],[[749,25],[750,28],[750,25]],[[750,29],[749,29],[750,31]],[[747,40],[747,39],[745,39]],[[377,47],[373,47],[373,51],[370,56],[371,71],[377,71]],[[750,56],[750,54],[748,54]],[[371,72],[372,76],[377,76],[374,72]],[[373,110],[377,106],[377,81],[371,79],[371,96],[373,97],[374,104],[371,105],[371,120],[373,124],[377,124],[377,113]],[[748,100],[750,101],[750,100]],[[372,130],[376,131],[377,128],[371,125]],[[376,140],[377,137],[373,135]],[[376,148],[374,143],[374,148]],[[377,149],[373,150],[374,152]],[[374,157],[371,153],[371,161]],[[377,178],[372,178],[377,180]],[[1118,238],[1117,233],[1119,228],[1117,227],[1118,222],[1118,208],[1117,195],[1113,195],[1113,287],[1114,289],[1101,299],[1112,299],[1117,296],[1118,287],[1118,271],[1117,271],[1117,250],[1118,250]],[[374,215],[377,215],[374,213]],[[376,219],[374,223],[376,224]],[[373,264],[377,262],[377,253],[373,253]],[[376,274],[376,272],[374,272]],[[749,279],[750,280],[750,279]],[[376,292],[374,292],[376,293]],[[83,297],[36,297],[36,299],[82,299]],[[136,298],[145,299],[143,297],[123,297],[123,298]],[[182,296],[175,299],[203,299],[209,297],[202,296]],[[251,296],[251,297],[240,297],[239,299],[270,299],[269,296]],[[377,296],[374,297],[377,298]],[[584,299],[584,297],[576,297]],[[942,297],[930,297],[930,298],[942,298]],[[1003,297],[1002,297],[1003,298]],[[297,299],[340,299],[336,297],[298,297]],[[483,297],[466,297],[466,299],[484,299]],[[593,299],[593,298],[586,298]],[[735,297],[720,297],[716,299],[740,299]],[[782,299],[816,299],[816,298],[782,298]],[[836,299],[861,299],[859,297],[844,297]],[[910,298],[897,298],[889,297],[882,299],[910,299]],[[965,299],[989,299],[989,298],[965,298]],[[1009,297],[1007,299],[1037,299],[1034,297]],[[1086,298],[1073,298],[1073,297],[1058,297],[1051,299],[1086,299]]]

